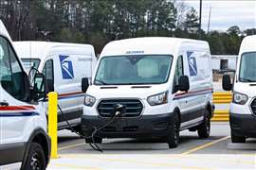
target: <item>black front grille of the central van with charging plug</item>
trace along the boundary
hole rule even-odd
[[[98,112],[101,117],[111,117],[118,104],[124,106],[122,117],[137,117],[143,110],[143,105],[138,99],[105,99],[99,103]]]

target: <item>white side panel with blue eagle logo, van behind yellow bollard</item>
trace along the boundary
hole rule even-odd
[[[64,115],[59,111],[59,129],[67,126],[66,120],[72,126],[80,124],[83,96],[81,89],[82,77],[92,76],[93,58],[90,53],[82,53],[79,48],[55,48],[47,59],[54,62],[54,90],[59,94],[59,105]],[[46,60],[47,60],[46,59]]]

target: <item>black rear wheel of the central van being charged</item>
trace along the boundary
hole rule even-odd
[[[197,127],[199,138],[208,138],[210,136],[210,112],[206,110],[204,122]]]

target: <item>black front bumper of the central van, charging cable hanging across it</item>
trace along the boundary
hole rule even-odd
[[[164,137],[168,134],[168,129],[174,120],[173,113],[158,115],[141,115],[134,118],[120,118],[105,126],[111,118],[100,116],[82,115],[82,132],[85,136],[90,136],[94,127],[103,127],[97,136],[101,138],[146,138]]]

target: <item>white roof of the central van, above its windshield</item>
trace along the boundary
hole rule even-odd
[[[191,39],[147,37],[109,42],[101,52],[102,56],[129,54],[175,54],[182,43],[194,43],[197,48],[209,50],[209,43]]]

